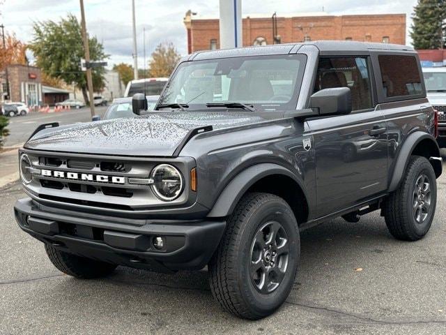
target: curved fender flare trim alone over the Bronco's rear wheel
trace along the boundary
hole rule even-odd
[[[406,138],[406,140],[403,143],[403,146],[401,147],[401,150],[399,151],[399,155],[397,158],[397,162],[394,165],[394,169],[393,169],[393,173],[392,173],[392,178],[390,179],[390,183],[389,183],[389,188],[388,191],[389,192],[393,192],[395,191],[400,182],[401,179],[403,178],[403,174],[404,171],[406,170],[406,166],[408,164],[410,155],[413,153],[413,150],[415,149],[415,147],[417,147],[417,144],[420,143],[422,140],[431,140],[431,142],[433,144],[435,144],[435,148],[436,148],[436,157],[440,157],[440,149],[438,147],[438,143],[435,140],[435,138],[428,134],[428,133],[424,133],[422,131],[415,131],[415,133],[411,133],[410,135],[408,135],[408,137]],[[432,156],[432,155],[431,155]],[[429,159],[430,157],[428,157]],[[431,164],[437,164],[437,162],[439,163],[439,169],[440,169],[440,173],[437,173],[437,177],[441,174],[441,161],[432,161],[431,160]],[[434,166],[434,170],[435,170],[435,166]]]

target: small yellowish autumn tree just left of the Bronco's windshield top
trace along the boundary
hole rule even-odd
[[[180,60],[180,54],[176,51],[173,43],[160,43],[152,53],[149,61],[150,77],[169,77],[176,64]]]

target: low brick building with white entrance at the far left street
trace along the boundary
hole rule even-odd
[[[10,101],[26,103],[29,106],[42,104],[40,68],[26,65],[9,65],[8,78]]]

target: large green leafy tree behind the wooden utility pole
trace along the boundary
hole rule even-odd
[[[80,68],[84,58],[81,26],[75,15],[68,14],[60,22],[34,22],[33,40],[30,49],[36,57],[36,66],[40,67],[49,77],[74,82],[82,90],[84,100],[87,95],[86,73]],[[108,57],[104,47],[93,37],[89,38],[91,61],[100,61]],[[101,91],[105,86],[104,68],[93,68],[93,90]]]

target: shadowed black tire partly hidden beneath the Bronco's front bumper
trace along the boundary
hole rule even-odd
[[[116,268],[116,265],[113,264],[59,251],[51,244],[45,244],[45,251],[57,269],[76,278],[100,278],[112,274]]]

